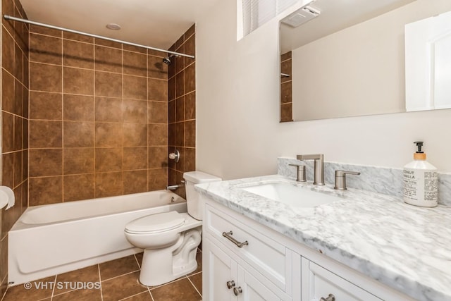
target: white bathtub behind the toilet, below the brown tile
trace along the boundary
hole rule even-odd
[[[125,257],[141,249],[125,239],[125,224],[186,201],[158,190],[28,207],[8,233],[8,282],[17,285]]]

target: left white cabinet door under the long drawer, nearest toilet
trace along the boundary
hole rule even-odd
[[[228,281],[237,284],[237,263],[228,254],[204,238],[202,242],[202,297],[204,301],[236,301],[233,287]]]

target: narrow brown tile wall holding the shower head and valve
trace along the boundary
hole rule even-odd
[[[192,25],[169,50],[194,56],[195,49],[195,25]],[[178,163],[169,160],[169,185],[180,184],[185,171],[196,169],[195,64],[195,59],[179,56],[168,68],[169,151],[180,152]],[[185,188],[175,193],[185,197]]]

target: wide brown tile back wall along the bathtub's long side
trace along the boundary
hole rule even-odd
[[[30,206],[168,183],[164,53],[30,28]]]

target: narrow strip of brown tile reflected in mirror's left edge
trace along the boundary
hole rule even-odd
[[[280,122],[293,121],[291,62],[291,51],[280,56],[280,73],[290,75],[290,77],[280,75]]]

